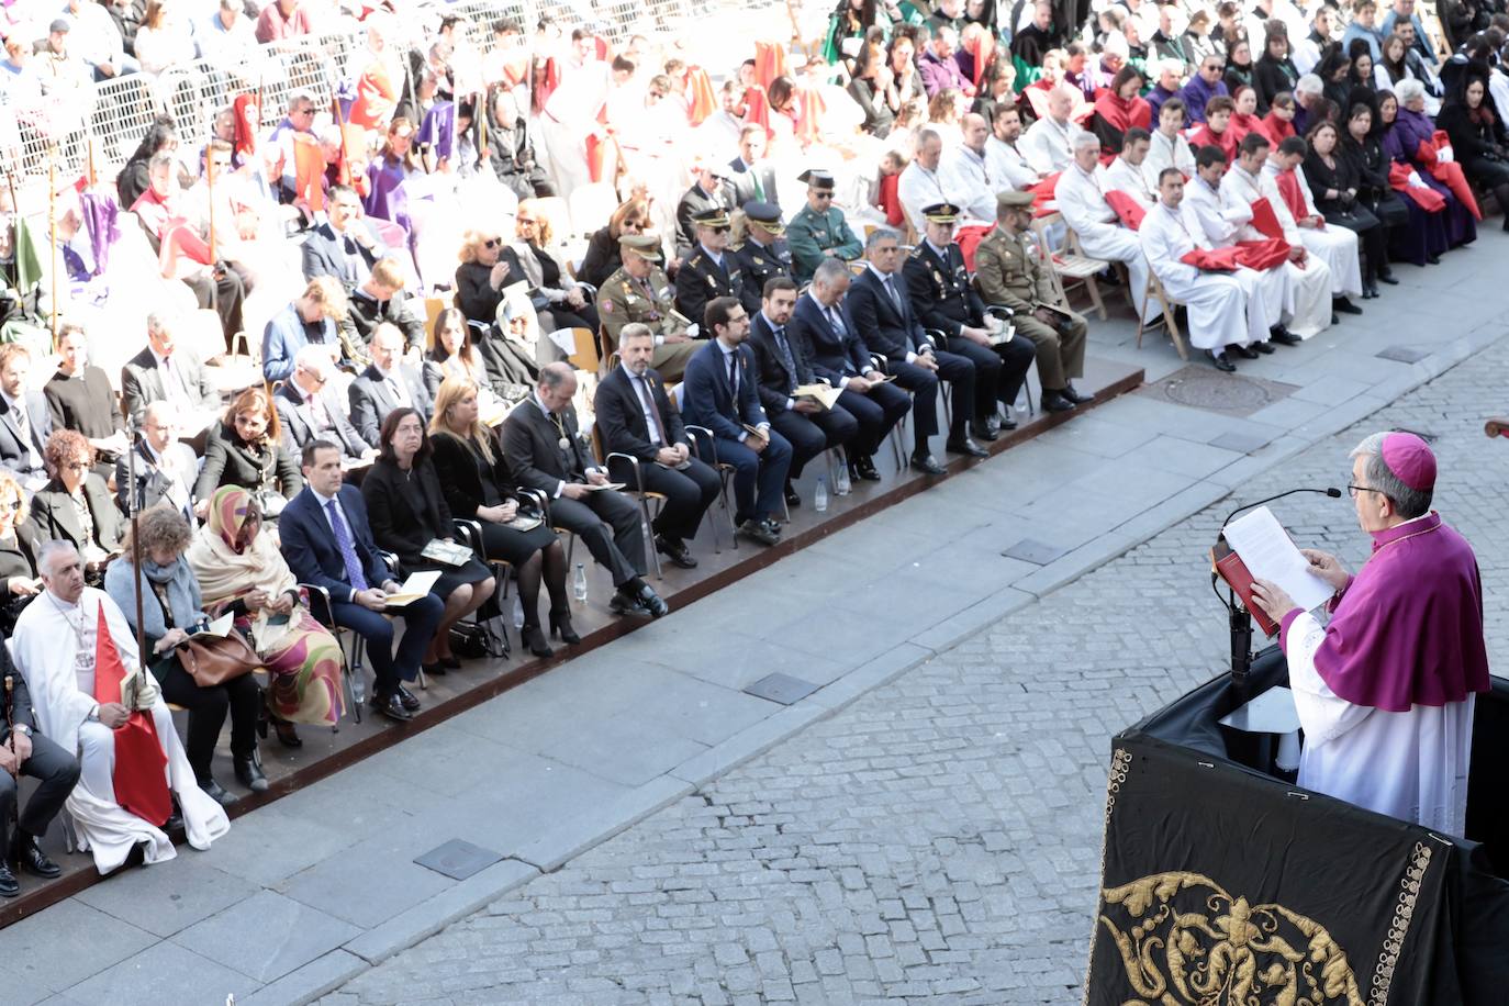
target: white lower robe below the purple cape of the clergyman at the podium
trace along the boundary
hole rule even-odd
[[[1325,627],[1296,615],[1284,636],[1289,686],[1305,747],[1299,784],[1337,799],[1462,836],[1476,695],[1447,706],[1385,712],[1337,697],[1316,671]]]

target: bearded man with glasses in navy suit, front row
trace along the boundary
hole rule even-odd
[[[687,360],[681,415],[712,430],[717,457],[732,465],[733,522],[739,534],[761,544],[780,543],[782,490],[791,468],[791,443],[759,404],[754,353],[744,345],[750,318],[736,297],[715,297],[703,314],[712,339]]]

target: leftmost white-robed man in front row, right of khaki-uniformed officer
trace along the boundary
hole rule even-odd
[[[1163,290],[1189,308],[1189,342],[1213,359],[1228,345],[1268,341],[1263,281],[1251,268],[1206,271],[1182,261],[1195,250],[1210,250],[1194,210],[1183,205],[1185,176],[1168,169],[1159,201],[1142,220],[1138,238]]]

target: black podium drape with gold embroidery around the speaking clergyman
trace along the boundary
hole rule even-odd
[[[1246,698],[1283,685],[1275,649]],[[1509,1001],[1509,682],[1479,695],[1468,836],[1299,789],[1221,676],[1112,744],[1093,1006]]]

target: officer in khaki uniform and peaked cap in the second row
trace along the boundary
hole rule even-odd
[[[659,261],[659,238],[647,234],[625,234],[619,240],[623,265],[602,281],[598,288],[598,317],[602,318],[605,345],[611,353],[619,345],[619,332],[631,321],[647,324],[655,333],[655,354],[650,367],[667,383],[681,380],[687,360],[697,351],[697,342],[687,333],[691,327],[676,312],[670,279],[655,264]]]

